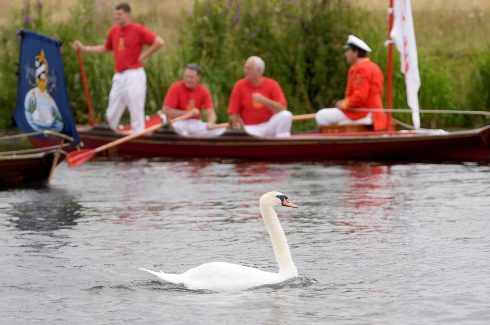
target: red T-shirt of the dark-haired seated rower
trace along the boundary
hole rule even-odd
[[[214,108],[211,93],[205,86],[197,84],[196,88],[189,89],[183,81],[174,82],[170,86],[163,105],[183,111],[190,111],[193,108],[202,111],[202,106],[204,109]],[[191,118],[200,119],[200,115]]]

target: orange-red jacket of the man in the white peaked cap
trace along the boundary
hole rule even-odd
[[[366,117],[369,112],[344,111],[349,108],[383,108],[384,76],[368,57],[357,60],[347,73],[347,90],[342,101],[343,113],[352,120]],[[386,129],[383,112],[371,112],[375,131]]]

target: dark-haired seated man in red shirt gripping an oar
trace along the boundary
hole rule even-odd
[[[214,137],[223,134],[226,128],[216,128],[216,113],[209,90],[199,83],[201,70],[199,66],[191,63],[184,69],[184,80],[174,82],[163,101],[163,114],[172,117],[187,114],[194,116],[172,123],[173,129],[183,136]],[[204,107],[207,122],[200,119]]]

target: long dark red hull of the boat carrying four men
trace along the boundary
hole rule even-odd
[[[103,125],[79,130],[84,148],[97,148],[125,134]],[[489,161],[490,126],[449,133],[365,132],[257,138],[227,131],[216,138],[186,138],[161,129],[123,143],[100,156],[119,159],[162,157],[265,162],[338,160]],[[31,138],[36,147],[56,145],[56,138]],[[75,150],[66,147],[66,151]]]

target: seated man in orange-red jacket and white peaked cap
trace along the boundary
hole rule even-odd
[[[337,124],[341,120],[371,117],[375,131],[386,129],[383,112],[353,112],[351,108],[383,108],[383,72],[371,62],[367,52],[372,50],[359,38],[349,35],[345,58],[350,69],[347,73],[345,98],[337,101],[336,108],[324,108],[315,116],[319,125]]]

